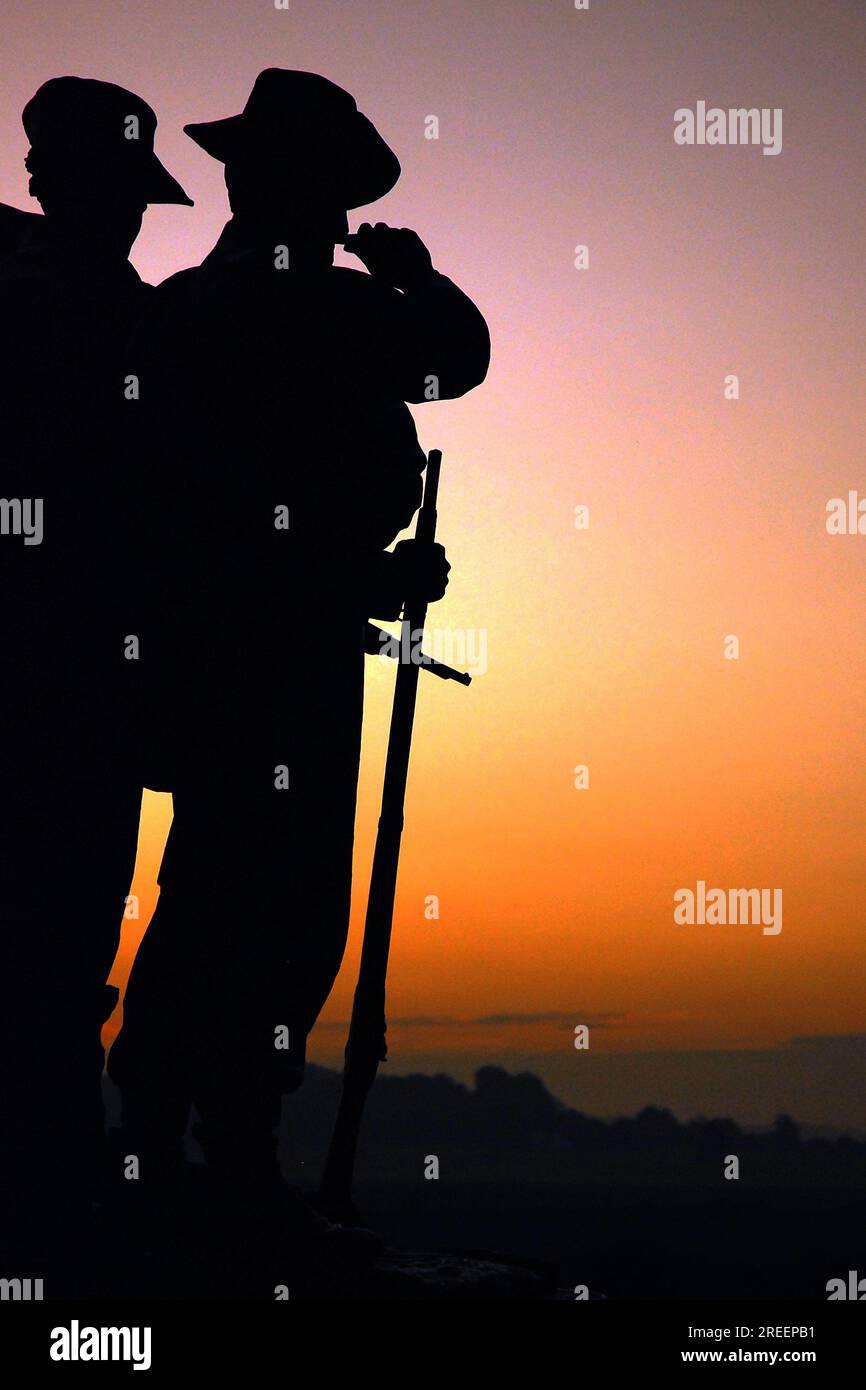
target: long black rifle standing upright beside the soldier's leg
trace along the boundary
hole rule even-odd
[[[427,484],[424,503],[418,512],[416,541],[432,542],[436,534],[436,495],[439,491],[439,467],[442,453],[432,449],[427,460]],[[352,1176],[354,1154],[364,1113],[364,1102],[375,1080],[379,1062],[388,1056],[385,1041],[385,979],[388,974],[388,952],[391,948],[391,924],[393,919],[393,898],[400,858],[400,837],[403,833],[403,803],[406,799],[406,777],[409,774],[409,752],[418,689],[418,671],[434,669],[431,657],[420,656],[411,660],[413,639],[424,631],[427,603],[413,600],[406,605],[400,634],[400,664],[398,666],[388,735],[388,758],[385,762],[385,783],[382,788],[382,810],[375,837],[370,897],[364,920],[364,945],[361,967],[352,1023],[343,1065],[343,1087],[331,1137],[331,1147],[321,1182],[321,1209],[336,1220],[352,1220]],[[445,678],[457,678],[468,684],[468,677],[443,671]],[[435,674],[443,674],[435,671]]]

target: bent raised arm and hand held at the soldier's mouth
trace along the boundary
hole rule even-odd
[[[386,295],[392,370],[403,400],[452,400],[487,377],[491,338],[481,311],[407,228],[364,224],[346,239]]]

